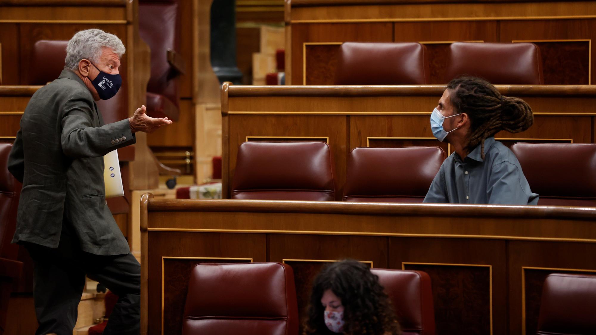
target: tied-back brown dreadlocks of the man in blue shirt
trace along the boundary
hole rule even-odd
[[[470,132],[465,149],[468,153],[478,144],[484,159],[485,139],[499,131],[523,132],[532,126],[532,108],[520,98],[505,97],[498,89],[484,79],[459,77],[447,85],[451,90],[451,104],[455,114],[465,113],[470,117]]]

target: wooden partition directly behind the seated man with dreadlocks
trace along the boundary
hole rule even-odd
[[[498,85],[520,97],[534,112],[527,131],[499,132],[514,142],[592,143],[596,126],[596,86]],[[436,145],[429,117],[445,86],[234,86],[222,89],[223,196],[228,197],[238,145],[244,141],[325,141],[333,152],[337,197],[347,157],[356,147]]]

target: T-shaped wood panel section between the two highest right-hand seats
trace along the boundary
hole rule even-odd
[[[442,84],[452,42],[497,42],[496,21],[396,22],[395,42],[421,42],[429,51],[430,83]]]

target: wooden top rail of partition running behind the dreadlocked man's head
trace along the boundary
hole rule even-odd
[[[503,95],[532,97],[596,97],[596,85],[495,85]],[[222,86],[225,97],[392,97],[442,95],[446,85],[371,86]]]

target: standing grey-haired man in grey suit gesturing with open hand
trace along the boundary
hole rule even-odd
[[[104,334],[139,334],[140,266],[107,207],[103,156],[172,121],[141,106],[104,125],[95,101],[122,85],[122,41],[88,29],[66,51],[60,77],[31,97],[8,162],[23,183],[13,242],[35,264],[36,334],[72,334],[85,275],[119,296]]]

